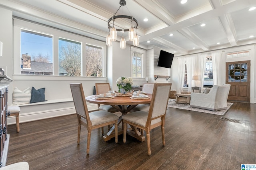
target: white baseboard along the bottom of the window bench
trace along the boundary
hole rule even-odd
[[[87,107],[88,107],[88,111],[93,111],[98,109],[97,104],[89,104],[87,105]],[[66,107],[66,108],[59,108],[59,109],[52,109],[52,110],[22,113],[19,115],[19,118],[20,118],[20,123],[25,123],[30,121],[48,119],[52,117],[71,115],[75,113],[76,113],[75,107]],[[15,116],[8,117],[7,123],[8,125],[16,124]]]

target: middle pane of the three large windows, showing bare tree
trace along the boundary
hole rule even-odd
[[[59,75],[81,76],[81,43],[59,38]]]

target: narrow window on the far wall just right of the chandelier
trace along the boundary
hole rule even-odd
[[[132,77],[142,78],[142,54],[132,53]]]

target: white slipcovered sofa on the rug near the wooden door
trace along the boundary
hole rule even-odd
[[[190,106],[207,110],[223,110],[227,108],[230,84],[214,85],[209,93],[191,93]]]

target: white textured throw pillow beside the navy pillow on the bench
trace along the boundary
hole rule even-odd
[[[20,105],[20,104],[28,104],[31,99],[31,89],[30,87],[21,91],[17,87],[14,88],[12,93],[12,104]]]

